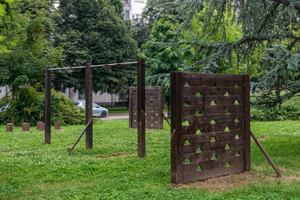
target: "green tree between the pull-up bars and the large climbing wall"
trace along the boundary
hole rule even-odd
[[[190,63],[189,50],[184,50],[185,45],[165,46],[168,42],[181,42],[181,35],[176,35],[178,23],[172,22],[172,15],[161,15],[154,22],[149,40],[142,45],[141,56],[145,57],[146,81],[148,85],[164,86],[164,101],[170,101],[170,72],[181,71],[188,68]]]

